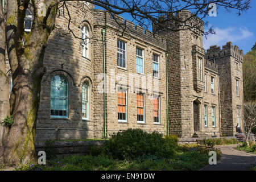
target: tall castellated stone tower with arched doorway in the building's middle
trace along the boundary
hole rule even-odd
[[[179,137],[201,135],[203,128],[203,96],[204,89],[204,56],[203,49],[203,22],[198,18],[189,22],[177,24],[172,20],[185,20],[190,16],[189,11],[180,11],[176,15],[168,14],[164,27],[186,27],[187,24],[199,23],[192,30],[170,31],[168,28],[159,28],[152,25],[153,32],[167,40],[168,53],[168,100],[170,133]],[[165,18],[165,17],[162,17]],[[170,20],[168,20],[170,19]],[[200,67],[198,61],[201,61]],[[201,70],[200,75],[199,69]],[[193,115],[193,102],[197,107],[197,116]],[[197,120],[194,122],[194,117]]]

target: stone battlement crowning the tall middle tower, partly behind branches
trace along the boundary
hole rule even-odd
[[[161,32],[166,31],[168,28],[172,28],[172,30],[178,30],[179,27],[188,27],[196,25],[196,27],[192,28],[193,31],[198,34],[203,34],[204,32],[204,22],[200,20],[198,17],[193,17],[188,19],[191,15],[193,15],[188,10],[178,11],[176,14],[168,13],[166,16],[161,16],[159,18],[159,24],[152,24],[153,32]],[[188,19],[188,20],[187,20]]]

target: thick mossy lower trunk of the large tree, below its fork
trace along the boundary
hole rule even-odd
[[[6,132],[4,139],[5,163],[13,166],[17,163],[36,162],[35,129],[36,114],[39,107],[41,79],[35,74],[20,73],[13,84],[15,101],[12,115],[14,123]]]

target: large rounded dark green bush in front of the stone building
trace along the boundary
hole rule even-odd
[[[157,132],[146,133],[141,129],[128,129],[114,134],[106,140],[102,147],[103,154],[114,159],[137,159],[143,156],[158,156],[159,158],[173,155],[176,142]]]

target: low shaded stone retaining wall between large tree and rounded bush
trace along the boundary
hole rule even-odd
[[[89,153],[90,147],[101,147],[105,140],[92,140],[92,141],[73,141],[73,142],[54,142],[51,146],[51,150],[55,150],[57,156],[69,156],[69,155],[86,155]],[[45,142],[36,142],[35,151],[38,154],[39,151],[49,151]],[[49,154],[46,154],[49,155]]]

